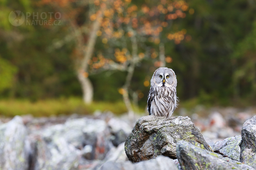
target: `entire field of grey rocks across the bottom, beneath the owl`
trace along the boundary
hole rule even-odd
[[[179,114],[187,116],[182,109]],[[254,147],[248,148],[255,143],[250,133],[256,130],[251,119],[256,115],[253,109],[212,109],[208,116],[200,115],[199,109],[189,117],[168,120],[136,115],[130,121],[127,115],[115,117],[109,112],[87,116],[1,118],[0,167],[3,170],[255,168]],[[248,119],[251,120],[247,122]],[[245,121],[247,124],[243,127]],[[131,137],[135,124],[137,128]],[[125,144],[128,136],[129,141]],[[212,153],[208,144],[228,157]],[[129,154],[129,148],[135,150],[130,150]],[[192,159],[199,157],[202,161]],[[167,161],[170,158],[175,160]],[[209,163],[215,159],[222,162],[218,167]],[[174,164],[176,166],[172,166]]]

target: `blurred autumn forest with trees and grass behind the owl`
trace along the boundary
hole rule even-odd
[[[255,14],[255,0],[0,0],[0,114],[144,111],[162,66],[180,108],[253,106]]]

